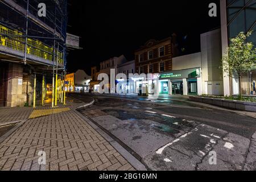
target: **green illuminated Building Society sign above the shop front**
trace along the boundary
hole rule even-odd
[[[197,78],[200,77],[200,68],[183,69],[168,73],[160,73],[159,79]]]

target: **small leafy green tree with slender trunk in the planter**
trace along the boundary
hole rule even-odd
[[[247,73],[255,65],[256,48],[253,43],[246,42],[246,39],[252,34],[251,31],[247,34],[240,32],[235,38],[230,39],[230,45],[226,55],[222,59],[222,69],[228,73],[228,76],[238,75],[239,91],[241,96],[241,76],[242,73]]]

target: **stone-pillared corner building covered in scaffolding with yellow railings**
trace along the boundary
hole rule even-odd
[[[46,5],[46,17],[38,16],[39,3]],[[66,36],[67,0],[0,0],[0,106],[35,106],[36,97],[44,104],[47,84],[56,105]]]

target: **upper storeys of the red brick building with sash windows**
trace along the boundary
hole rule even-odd
[[[172,71],[172,57],[176,55],[175,35],[163,40],[148,40],[135,51],[135,73],[160,73]]]

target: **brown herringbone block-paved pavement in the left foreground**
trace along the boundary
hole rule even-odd
[[[73,110],[79,105],[70,100],[67,107],[71,110],[24,122],[0,144],[0,170],[134,170]],[[27,110],[20,112],[23,118],[28,118],[32,108]],[[46,165],[38,164],[39,151],[46,152]]]

